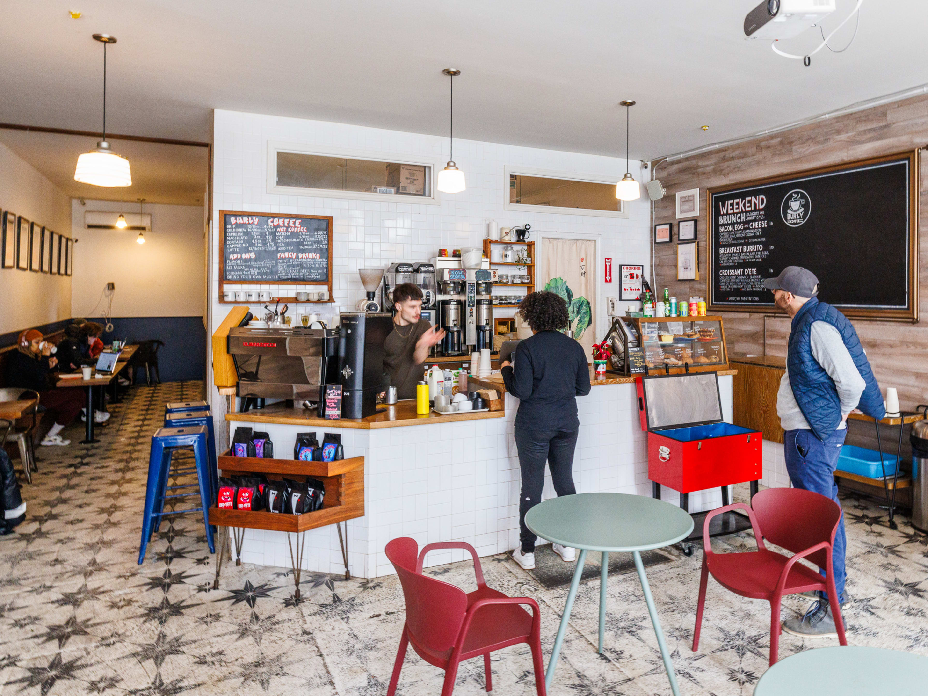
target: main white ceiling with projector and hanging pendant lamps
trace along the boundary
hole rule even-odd
[[[855,0],[837,0],[826,30]],[[206,141],[229,109],[634,158],[746,135],[928,82],[924,0],[865,0],[810,68],[748,42],[758,0],[45,0],[4,4],[0,121]],[[84,12],[70,19],[67,10]],[[851,20],[832,40],[843,46]],[[817,33],[783,42],[802,53]],[[702,124],[709,131],[700,129]],[[122,146],[120,146],[122,147]],[[135,162],[134,162],[135,166]]]

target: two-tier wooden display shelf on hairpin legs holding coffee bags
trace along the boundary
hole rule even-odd
[[[216,576],[213,589],[219,587],[219,574],[222,571],[223,557],[228,546],[228,531],[233,530],[236,548],[236,565],[241,564],[241,545],[245,529],[266,529],[286,532],[290,546],[290,561],[293,582],[296,586],[294,596],[300,599],[300,571],[303,564],[304,532],[310,529],[335,524],[342,543],[342,559],[345,565],[345,579],[350,579],[348,571],[347,526],[342,535],[342,522],[364,516],[364,458],[352,457],[337,461],[302,461],[299,459],[229,457],[228,451],[218,458],[220,475],[242,473],[263,473],[271,480],[288,478],[315,478],[322,481],[326,489],[322,509],[292,515],[283,512],[266,512],[240,509],[219,509],[215,505],[209,510],[210,524],[219,527],[219,544],[216,553]],[[296,534],[295,545],[290,542],[290,533]],[[302,535],[302,536],[300,536]],[[231,556],[231,554],[230,554]]]

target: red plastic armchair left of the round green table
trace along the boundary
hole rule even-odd
[[[473,571],[477,576],[477,589],[468,594],[459,587],[449,585],[422,574],[422,561],[434,548],[465,548],[473,557]],[[535,599],[507,597],[483,581],[483,570],[477,551],[463,542],[429,544],[422,548],[415,539],[402,536],[387,544],[387,558],[399,575],[406,598],[406,625],[403,638],[393,664],[393,677],[387,696],[393,696],[403,669],[406,646],[429,664],[445,670],[442,696],[451,696],[458,676],[458,664],[483,655],[486,671],[486,690],[493,690],[490,674],[490,653],[517,643],[528,643],[535,662],[535,688],[538,696],[545,696],[545,669],[541,660],[541,614]],[[532,607],[526,612],[520,604]]]

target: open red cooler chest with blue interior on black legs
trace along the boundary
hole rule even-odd
[[[655,497],[660,485],[673,488],[686,509],[685,494],[761,478],[763,434],[723,422],[715,372],[642,375],[636,388]]]

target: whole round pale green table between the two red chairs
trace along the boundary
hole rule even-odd
[[[670,680],[674,696],[679,696],[677,677],[670,654],[664,643],[664,632],[657,617],[651,586],[644,573],[641,551],[652,548],[668,547],[685,539],[693,530],[693,519],[685,510],[676,505],[655,500],[647,496],[630,496],[625,493],[580,493],[575,496],[561,496],[544,500],[525,515],[525,524],[536,535],[561,546],[579,548],[580,556],[567,593],[567,602],[561,615],[558,637],[554,640],[554,649],[545,673],[545,686],[550,688],[554,677],[554,668],[561,654],[561,644],[574,608],[574,598],[580,585],[580,575],[586,562],[586,551],[599,551],[602,554],[602,574],[599,578],[599,652],[602,652],[602,638],[606,625],[606,581],[609,575],[609,554],[611,551],[631,552],[635,557],[638,579],[644,592],[644,600],[651,614],[651,624],[657,635],[657,644],[664,658],[664,668]]]

